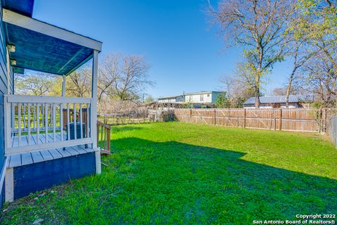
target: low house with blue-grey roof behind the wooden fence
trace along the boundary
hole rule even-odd
[[[289,95],[289,108],[308,108],[314,95]],[[255,97],[244,102],[244,108],[255,108]],[[260,96],[260,108],[286,108],[286,96]]]

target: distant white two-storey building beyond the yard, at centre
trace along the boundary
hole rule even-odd
[[[184,93],[179,96],[166,96],[158,98],[159,103],[190,103],[195,108],[200,108],[201,105],[213,106],[216,98],[221,94],[221,91],[200,91],[193,93]]]

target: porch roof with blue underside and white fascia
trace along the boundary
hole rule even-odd
[[[15,71],[22,69],[69,75],[101,50],[101,42],[4,9],[7,44]]]

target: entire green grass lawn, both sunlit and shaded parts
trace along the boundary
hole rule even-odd
[[[88,176],[6,204],[0,224],[252,224],[337,214],[337,150],[318,134],[185,123],[112,128]]]

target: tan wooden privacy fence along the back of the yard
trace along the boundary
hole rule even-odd
[[[225,127],[318,132],[317,118],[322,111],[315,108],[272,109],[175,109],[176,120]]]

